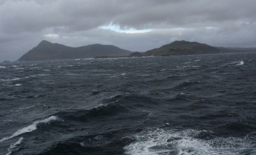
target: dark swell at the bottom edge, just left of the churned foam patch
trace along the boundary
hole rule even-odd
[[[61,141],[39,154],[123,154],[123,147],[132,141],[133,138],[113,133],[86,135]]]

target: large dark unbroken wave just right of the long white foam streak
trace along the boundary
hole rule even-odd
[[[157,102],[154,98],[149,98],[143,95],[116,95],[110,98],[102,99],[95,107],[91,109],[73,109],[68,111],[58,112],[57,115],[64,120],[73,121],[89,121],[91,119],[97,119],[102,117],[113,117],[119,115],[125,117],[126,114],[137,115],[140,113],[147,114],[147,108],[157,106]]]

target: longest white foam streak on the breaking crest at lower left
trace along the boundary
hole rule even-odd
[[[42,120],[42,121],[36,121],[36,122],[33,122],[33,124],[27,126],[27,127],[24,127],[24,128],[21,128],[20,130],[16,131],[13,135],[11,135],[10,137],[5,137],[5,138],[2,138],[0,140],[0,143],[5,141],[5,140],[9,140],[13,137],[16,137],[17,135],[20,135],[20,134],[24,134],[24,133],[30,133],[34,130],[37,129],[37,125],[40,124],[40,123],[48,123],[50,121],[55,121],[57,120],[58,118],[55,117],[55,116],[51,116],[49,118],[46,118],[45,120]]]

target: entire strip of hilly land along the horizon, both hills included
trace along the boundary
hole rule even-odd
[[[256,51],[256,48],[225,48],[213,47],[207,44],[174,41],[157,49],[145,52],[132,52],[120,49],[113,45],[92,44],[82,47],[68,47],[62,44],[41,41],[38,46],[28,51],[20,57],[18,61],[36,61],[36,60],[61,60],[61,59],[86,59],[86,58],[115,58],[115,57],[142,57],[142,56],[180,56],[192,54],[216,54]]]

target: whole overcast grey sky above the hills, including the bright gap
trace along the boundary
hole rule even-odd
[[[146,51],[175,40],[256,47],[255,0],[0,0],[0,62],[47,40]]]

